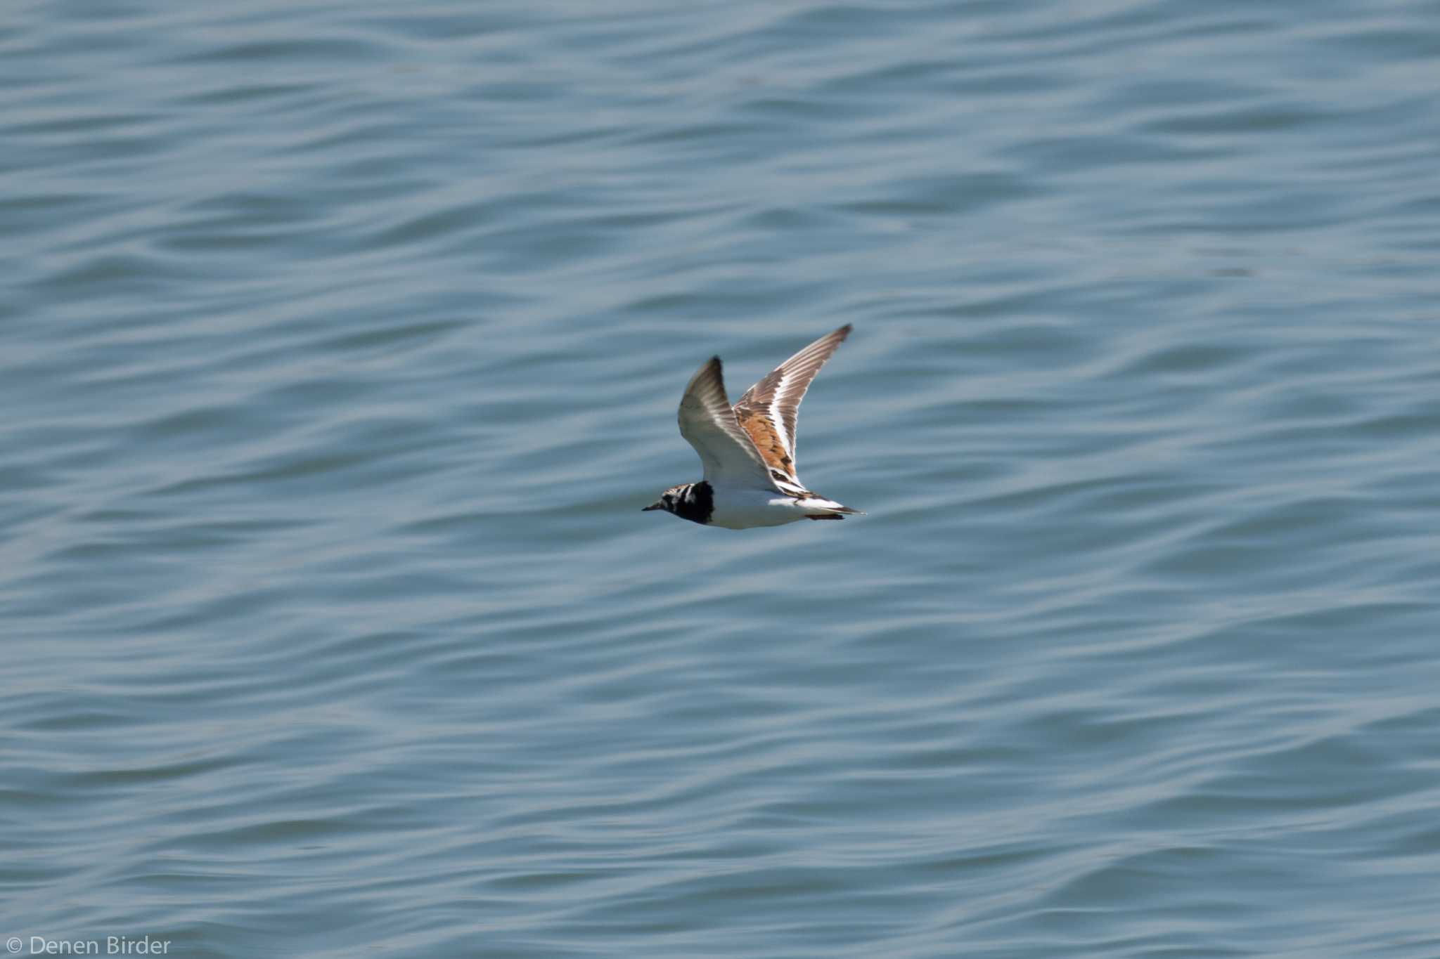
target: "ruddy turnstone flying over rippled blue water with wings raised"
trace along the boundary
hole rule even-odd
[[[704,479],[671,486],[641,512],[664,509],[726,529],[858,513],[809,492],[795,476],[795,414],[811,380],[848,335],[845,324],[821,336],[746,390],[734,407],[720,377],[720,357],[711,357],[680,401],[680,436],[700,454]]]

